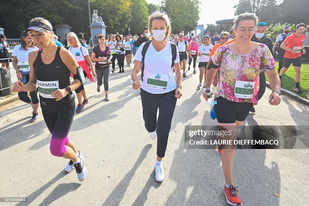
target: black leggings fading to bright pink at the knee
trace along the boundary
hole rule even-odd
[[[41,102],[44,121],[52,134],[49,149],[53,156],[62,157],[66,153],[66,146],[69,142],[68,134],[75,112],[75,100],[67,95],[65,103],[58,105],[47,105]]]

